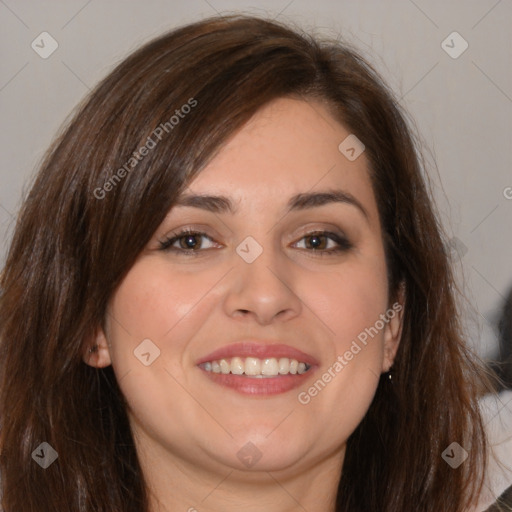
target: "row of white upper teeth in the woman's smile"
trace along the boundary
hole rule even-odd
[[[281,357],[276,359],[270,357],[267,359],[258,359],[257,357],[233,357],[229,359],[220,359],[219,361],[208,361],[201,365],[207,372],[213,373],[232,373],[234,375],[248,375],[250,377],[273,377],[276,375],[302,374],[309,370],[310,366],[301,363],[297,359],[288,359]]]

